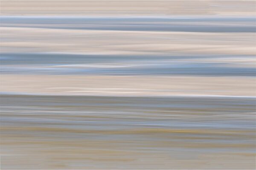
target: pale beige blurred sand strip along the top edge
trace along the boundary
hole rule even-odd
[[[2,0],[4,15],[254,15],[253,0]]]

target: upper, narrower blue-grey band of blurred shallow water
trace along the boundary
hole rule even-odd
[[[2,17],[3,26],[118,31],[255,32],[254,17]],[[64,24],[68,23],[68,24]]]

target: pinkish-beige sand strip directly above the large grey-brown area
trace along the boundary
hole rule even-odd
[[[250,96],[253,77],[1,75],[2,94],[96,96]]]

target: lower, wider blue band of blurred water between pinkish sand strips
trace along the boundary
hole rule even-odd
[[[225,61],[222,61],[222,60]],[[119,56],[2,54],[3,74],[199,75],[255,77],[252,56]],[[213,60],[213,61],[212,61]],[[246,65],[246,64],[245,64]]]

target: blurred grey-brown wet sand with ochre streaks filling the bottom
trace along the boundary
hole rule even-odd
[[[3,169],[255,167],[251,98],[2,95],[1,103]]]

